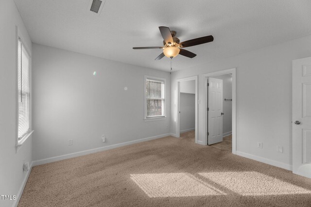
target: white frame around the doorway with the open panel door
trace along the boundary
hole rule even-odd
[[[225,74],[232,74],[232,154],[236,154],[237,152],[237,109],[236,109],[236,68],[230,68],[225,70],[220,70],[216,72],[206,73],[203,74],[204,79],[204,119],[203,119],[203,130],[204,130],[204,145],[207,145],[207,83],[208,83],[208,77],[213,76],[221,76]]]

